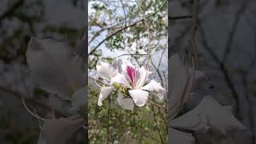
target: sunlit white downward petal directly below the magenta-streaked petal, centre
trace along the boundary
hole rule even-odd
[[[149,93],[145,90],[129,90],[129,94],[137,106],[144,106],[149,97]]]

